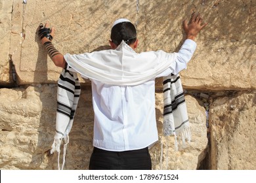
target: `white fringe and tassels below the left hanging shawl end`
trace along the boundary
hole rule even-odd
[[[64,145],[63,145],[62,167],[60,169],[60,146],[62,144],[62,141],[64,141]],[[54,142],[53,142],[53,145],[51,148],[51,154],[53,154],[54,152],[58,152],[58,170],[64,169],[68,142],[70,142],[70,137],[68,136],[68,134],[63,136],[62,138],[59,138],[58,135],[55,135],[55,137],[54,137]]]

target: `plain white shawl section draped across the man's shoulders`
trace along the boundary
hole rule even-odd
[[[102,50],[79,55],[66,54],[68,65],[85,78],[105,84],[131,86],[142,84],[165,71],[176,54],[142,52],[136,54],[124,41],[116,50]],[[168,58],[163,58],[163,56]]]

